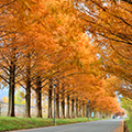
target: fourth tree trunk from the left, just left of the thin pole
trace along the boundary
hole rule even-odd
[[[53,80],[50,79],[50,87],[48,87],[48,116],[47,116],[47,118],[53,118],[53,114],[52,114],[52,90],[53,90]]]

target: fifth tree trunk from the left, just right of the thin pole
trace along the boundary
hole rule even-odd
[[[56,118],[58,119],[59,118],[59,84],[57,84],[57,87],[56,87]]]

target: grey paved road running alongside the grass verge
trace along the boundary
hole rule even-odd
[[[13,132],[123,132],[120,119],[46,127]]]

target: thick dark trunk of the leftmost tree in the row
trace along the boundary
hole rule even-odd
[[[11,61],[10,66],[10,84],[9,84],[9,108],[8,116],[15,117],[14,114],[14,88],[15,88],[15,64]]]

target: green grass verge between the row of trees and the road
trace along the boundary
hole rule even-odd
[[[97,118],[89,120],[87,118],[56,119],[56,125],[76,123],[76,122],[87,122],[95,120],[100,120],[100,119]],[[31,129],[31,128],[50,127],[50,125],[54,125],[53,119],[0,117],[0,131],[21,130],[21,129]]]

